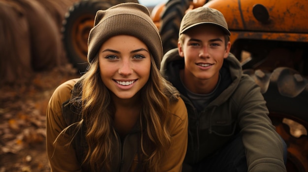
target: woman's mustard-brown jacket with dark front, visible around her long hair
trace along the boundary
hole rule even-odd
[[[53,172],[89,172],[89,170],[85,170],[89,169],[88,167],[81,165],[79,154],[82,150],[79,149],[82,146],[77,145],[76,149],[78,150],[76,150],[76,144],[74,144],[76,142],[68,144],[71,141],[71,137],[68,134],[70,132],[65,132],[65,134],[59,137],[56,144],[53,144],[59,133],[74,121],[67,119],[70,113],[67,109],[63,110],[63,108],[65,107],[65,102],[71,98],[72,88],[78,80],[71,79],[60,85],[53,93],[47,107],[47,154]],[[63,112],[68,114],[63,114]],[[165,156],[162,157],[160,168],[162,172],[181,172],[187,147],[188,125],[187,111],[182,98],[178,97],[178,101],[174,101],[171,104],[171,114],[172,117],[169,125],[172,136],[171,147],[165,152]],[[140,149],[140,132],[140,128],[137,125],[127,134],[123,142],[114,138],[114,144],[118,145],[118,148],[112,151],[114,156],[111,172],[140,171],[138,170],[140,158],[138,159],[137,156],[137,152]],[[83,145],[82,137],[77,136],[76,138],[81,140],[80,144]]]

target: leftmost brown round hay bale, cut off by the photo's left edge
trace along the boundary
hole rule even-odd
[[[0,84],[23,82],[32,74],[29,25],[22,7],[0,0]]]

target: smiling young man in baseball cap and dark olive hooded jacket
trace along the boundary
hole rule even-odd
[[[183,172],[284,172],[285,143],[260,88],[229,53],[229,36],[219,11],[195,8],[181,22],[178,48],[161,62],[188,111]]]

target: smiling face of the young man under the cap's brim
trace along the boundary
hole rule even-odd
[[[187,30],[183,43],[178,45],[180,56],[185,57],[185,78],[217,82],[230,47],[230,42],[225,46],[224,34],[217,26],[200,25]]]

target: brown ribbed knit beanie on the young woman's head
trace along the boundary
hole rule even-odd
[[[147,7],[126,2],[96,12],[94,27],[88,39],[88,61],[92,62],[101,45],[116,35],[130,35],[145,43],[160,69],[162,43]]]

